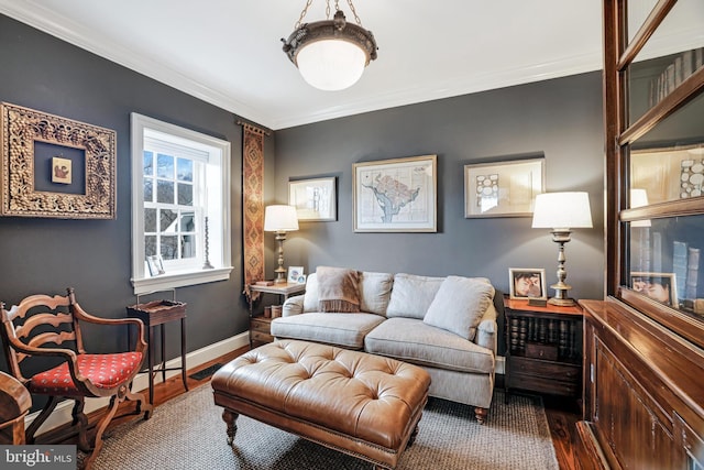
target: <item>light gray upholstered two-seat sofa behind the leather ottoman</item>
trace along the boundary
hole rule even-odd
[[[320,311],[318,274],[311,273],[306,293],[288,298],[283,316],[272,321],[272,335],[420,365],[432,379],[431,396],[474,406],[477,422],[484,423],[503,309],[490,281],[355,273],[359,313]]]

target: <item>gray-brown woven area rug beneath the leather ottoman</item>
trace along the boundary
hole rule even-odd
[[[122,424],[108,433],[95,470],[371,469],[369,462],[255,422],[238,419],[235,449],[227,444],[222,408],[209,384],[154,409],[150,420]],[[416,442],[397,469],[558,469],[542,403],[496,391],[486,424],[470,406],[431,398]]]

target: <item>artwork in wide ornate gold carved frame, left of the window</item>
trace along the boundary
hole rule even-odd
[[[113,130],[0,105],[0,215],[114,219]]]

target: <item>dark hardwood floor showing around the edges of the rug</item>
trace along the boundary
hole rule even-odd
[[[217,363],[229,362],[248,350],[249,347],[241,348],[227,356],[188,370],[188,387],[193,390],[197,386],[206,385],[210,381],[209,375],[205,376],[201,380],[195,380],[190,376],[194,373]],[[185,390],[184,384],[180,380],[180,375],[175,375],[170,379],[167,379],[166,382],[160,383],[154,386],[154,406],[166,403],[183,393],[185,393]],[[581,416],[579,404],[573,400],[564,400],[551,396],[543,397],[543,403],[546,405],[546,415],[548,417],[550,434],[552,436],[552,444],[554,446],[558,463],[560,464],[560,470],[580,470],[580,464],[576,461],[573,446],[575,437],[575,424]],[[89,415],[90,423],[96,422],[96,413]],[[119,424],[124,419],[134,419],[134,416],[125,416],[123,418],[113,419],[112,425]],[[37,441],[37,444],[51,441],[69,444],[73,442],[73,436],[67,434],[66,428],[58,428],[45,435],[38,436]]]

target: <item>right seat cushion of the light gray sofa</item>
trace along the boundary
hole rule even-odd
[[[277,319],[278,320],[278,319]],[[494,352],[415,318],[389,318],[364,338],[364,350],[418,365],[493,374]]]

